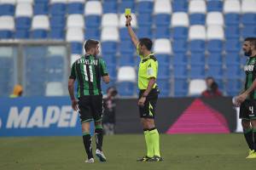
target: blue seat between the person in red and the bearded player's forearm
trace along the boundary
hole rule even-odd
[[[228,79],[226,83],[227,95],[228,96],[236,96],[241,92],[242,82],[238,79],[232,78]]]

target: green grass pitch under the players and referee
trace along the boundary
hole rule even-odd
[[[145,154],[143,135],[105,136],[107,162],[86,164],[81,137],[0,138],[1,170],[191,170],[256,167],[247,160],[242,134],[160,135],[162,162],[137,162]],[[95,150],[95,145],[94,145]]]

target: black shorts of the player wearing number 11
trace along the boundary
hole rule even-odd
[[[83,96],[79,98],[79,114],[81,122],[102,121],[102,95]]]

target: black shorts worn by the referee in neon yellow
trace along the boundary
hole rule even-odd
[[[140,90],[139,99],[142,97],[145,90]],[[143,106],[139,105],[139,112],[141,118],[152,118],[154,119],[156,103],[158,99],[158,88],[153,88],[148,96]]]

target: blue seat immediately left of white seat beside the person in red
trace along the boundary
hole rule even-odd
[[[188,81],[186,78],[175,78],[174,79],[174,96],[182,97],[188,94]]]

